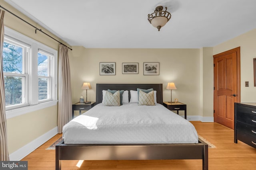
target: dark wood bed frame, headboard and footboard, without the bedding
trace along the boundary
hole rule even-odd
[[[96,104],[100,108],[103,90],[136,90],[153,88],[156,101],[162,104],[162,84],[96,84]],[[130,99],[130,93],[128,94]],[[96,107],[96,106],[95,106]],[[96,109],[97,109],[96,107]],[[123,107],[126,107],[124,104]],[[161,106],[159,106],[161,107]],[[90,111],[90,110],[89,110]],[[183,119],[183,118],[182,118]],[[74,123],[74,121],[73,121]],[[75,133],[70,131],[70,134]],[[77,136],[77,135],[75,135]],[[198,143],[83,143],[62,140],[56,145],[56,170],[61,169],[61,160],[163,160],[163,159],[202,159],[202,169],[208,169],[208,145]]]

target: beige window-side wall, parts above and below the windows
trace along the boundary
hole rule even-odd
[[[20,16],[31,24],[42,28],[43,31],[58,39],[58,37],[52,35],[40,25],[37,25],[35,22],[15,10],[15,8],[12,8],[12,6],[4,2],[4,0],[0,0],[0,4],[4,8],[10,10],[11,12]],[[53,49],[58,50],[58,43],[56,41],[50,39],[49,37],[40,32],[35,34],[35,29],[33,27],[12,16],[8,12],[5,12],[4,15],[4,25],[32,39],[35,39],[40,43],[43,43]],[[41,135],[44,135],[45,133],[56,127],[57,109],[58,108],[56,105],[7,119],[9,154],[14,152],[15,150],[20,149],[24,145],[32,142],[33,140],[37,139]]]

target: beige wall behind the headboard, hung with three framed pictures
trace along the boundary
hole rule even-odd
[[[72,47],[72,102],[78,102],[83,82],[90,82],[88,100],[96,100],[96,83],[162,83],[164,101],[170,101],[168,82],[174,82],[172,100],[187,104],[187,115],[199,115],[200,50],[199,49],[82,49]],[[116,62],[116,75],[100,76],[100,62]],[[122,63],[139,63],[139,74],[122,74]],[[159,62],[160,75],[144,76],[143,62]],[[182,111],[181,111],[182,113]],[[183,113],[182,113],[183,114]]]

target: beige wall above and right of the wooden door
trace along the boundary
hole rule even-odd
[[[213,48],[218,54],[240,47],[241,51],[241,102],[256,102],[256,87],[254,87],[253,59],[256,58],[256,29],[230,39]],[[245,87],[245,82],[249,87]]]

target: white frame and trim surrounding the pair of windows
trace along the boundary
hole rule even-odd
[[[6,26],[4,26],[4,40],[10,42],[18,42],[18,44],[22,44],[28,47],[26,50],[25,57],[25,68],[24,73],[25,86],[27,89],[25,92],[26,104],[16,104],[11,106],[6,106],[6,118],[15,117],[18,115],[22,115],[25,113],[29,113],[31,111],[35,111],[38,109],[43,109],[46,107],[54,106],[58,102],[58,51],[48,47],[34,39],[31,39],[21,33],[18,33]],[[38,100],[38,51],[44,51],[47,55],[51,55],[51,84],[50,84],[50,99],[46,100]],[[18,73],[4,73],[4,76],[8,76],[9,74],[16,75]],[[20,76],[21,74],[19,74]]]

